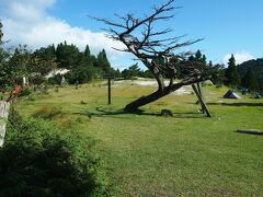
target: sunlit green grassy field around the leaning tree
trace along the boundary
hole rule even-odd
[[[21,114],[41,116],[96,140],[108,166],[114,196],[263,196],[263,137],[236,132],[263,129],[263,101],[225,100],[227,89],[205,86],[213,118],[196,97],[171,94],[142,109],[123,114],[128,102],[155,90],[125,82],[50,89],[16,104]],[[161,117],[171,109],[174,117]],[[49,118],[49,119],[48,119]]]

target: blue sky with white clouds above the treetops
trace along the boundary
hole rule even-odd
[[[81,49],[85,44],[94,54],[105,48],[115,68],[133,63],[132,56],[113,51],[121,44],[102,37],[98,23],[87,15],[114,20],[114,13],[151,12],[165,0],[0,0],[0,19],[12,45],[28,43],[33,48],[68,39]],[[175,18],[158,28],[172,27],[174,35],[205,38],[190,47],[201,49],[207,59],[226,62],[235,54],[238,62],[263,57],[262,0],[175,0]]]

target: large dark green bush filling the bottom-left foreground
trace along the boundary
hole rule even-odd
[[[0,196],[108,196],[92,140],[14,112],[10,117],[0,150]]]

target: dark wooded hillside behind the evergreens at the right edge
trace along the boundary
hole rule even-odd
[[[263,58],[252,59],[249,61],[244,61],[241,65],[238,65],[238,71],[241,78],[244,77],[249,68],[253,68],[256,79],[259,80],[261,90],[263,90]]]

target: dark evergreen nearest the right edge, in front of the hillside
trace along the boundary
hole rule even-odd
[[[258,91],[260,89],[259,81],[256,79],[255,72],[252,68],[249,68],[248,72],[242,79],[242,86],[251,91]]]

